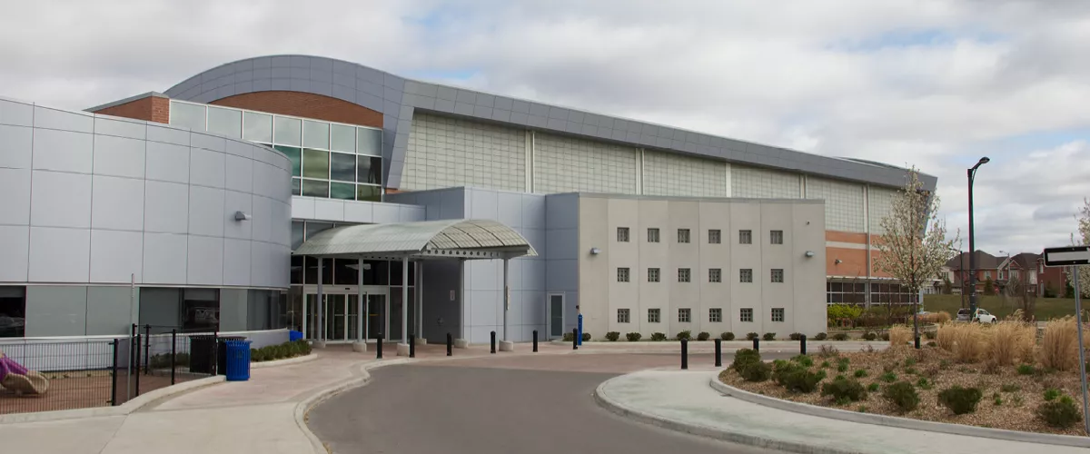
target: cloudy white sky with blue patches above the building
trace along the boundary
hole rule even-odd
[[[271,53],[938,176],[978,247],[1064,245],[1090,196],[1090,1],[4,2],[0,96],[84,109]],[[966,243],[965,247],[968,247]]]

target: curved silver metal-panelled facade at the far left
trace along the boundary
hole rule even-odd
[[[0,284],[287,287],[290,170],[242,140],[0,99]]]

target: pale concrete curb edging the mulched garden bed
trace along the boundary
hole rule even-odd
[[[986,427],[965,426],[946,422],[922,421],[919,419],[899,418],[896,416],[874,415],[869,413],[858,413],[838,408],[822,407],[818,405],[802,404],[798,402],[785,401],[766,395],[754,394],[738,388],[728,385],[719,381],[718,373],[712,377],[708,385],[713,390],[724,395],[746,401],[751,404],[763,405],[784,412],[799,413],[821,418],[839,419],[849,422],[867,424],[874,426],[896,427],[900,429],[920,430],[925,432],[949,433],[962,437],[979,437],[990,440],[1016,441],[1022,443],[1051,444],[1071,447],[1090,447],[1090,439],[1075,435],[1056,435],[1052,433],[1019,432],[1017,430],[990,429]]]

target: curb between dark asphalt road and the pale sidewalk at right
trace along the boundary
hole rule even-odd
[[[682,422],[664,416],[653,415],[646,412],[633,409],[621,404],[617,400],[609,397],[606,391],[609,382],[621,379],[626,376],[614,377],[602,382],[594,390],[594,401],[598,406],[627,419],[661,427],[664,429],[689,433],[693,435],[706,437],[711,439],[727,441],[731,443],[746,444],[750,446],[766,447],[778,451],[786,451],[798,454],[863,454],[861,451],[847,451],[825,446],[811,446],[792,441],[774,440],[764,437],[756,437],[739,431],[724,430],[714,427]]]

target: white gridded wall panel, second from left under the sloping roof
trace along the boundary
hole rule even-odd
[[[552,134],[534,136],[534,192],[635,194],[639,150]]]

